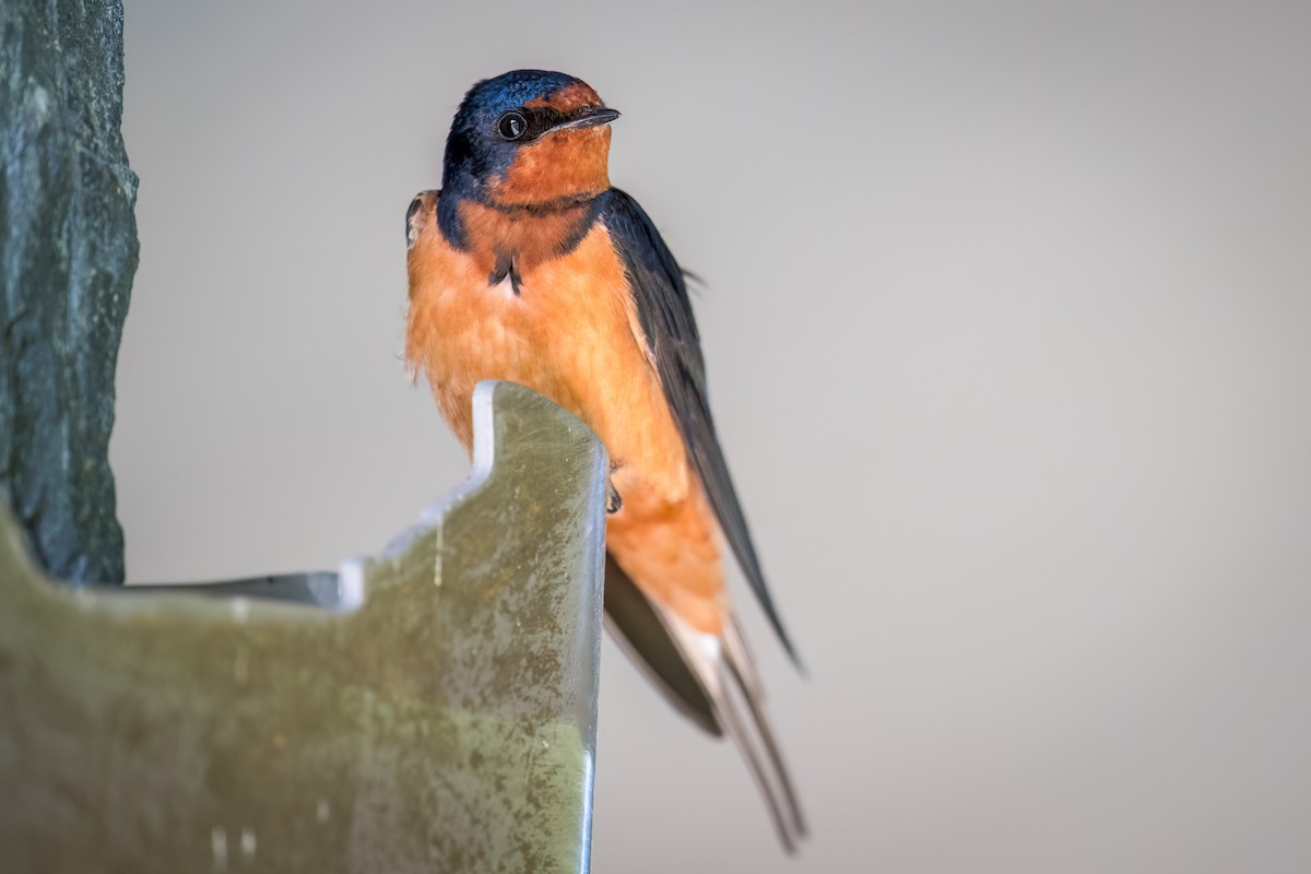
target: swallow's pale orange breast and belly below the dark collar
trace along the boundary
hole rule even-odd
[[[476,253],[437,227],[437,198],[412,224],[406,359],[427,375],[443,417],[468,448],[479,380],[527,385],[586,422],[606,444],[624,508],[607,545],[652,598],[718,632],[726,612],[717,525],[646,358],[624,267],[600,224],[566,256],[488,286]]]

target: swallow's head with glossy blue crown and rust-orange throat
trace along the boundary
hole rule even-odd
[[[587,83],[515,69],[464,96],[446,140],[442,189],[501,207],[547,207],[610,187],[607,109]]]

